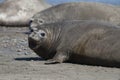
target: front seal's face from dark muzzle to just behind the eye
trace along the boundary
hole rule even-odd
[[[38,56],[43,59],[49,59],[52,55],[49,55],[49,44],[47,33],[44,30],[34,30],[28,36],[28,44]]]

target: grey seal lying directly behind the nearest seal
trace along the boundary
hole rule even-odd
[[[120,8],[95,2],[63,3],[35,14],[30,28],[64,20],[100,20],[120,25]]]

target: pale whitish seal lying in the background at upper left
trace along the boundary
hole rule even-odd
[[[0,3],[0,25],[28,26],[35,13],[50,6],[44,0],[4,0]]]

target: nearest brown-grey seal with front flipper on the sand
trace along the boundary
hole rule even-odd
[[[73,62],[120,67],[120,28],[98,21],[43,24],[28,36],[46,64]]]

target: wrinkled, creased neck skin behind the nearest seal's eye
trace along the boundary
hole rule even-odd
[[[47,32],[47,48],[49,52],[56,51],[56,48],[59,46],[61,42],[61,34],[62,28],[61,27],[50,27],[46,29]]]

